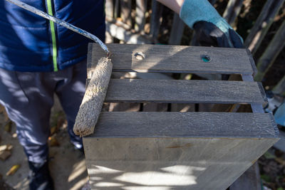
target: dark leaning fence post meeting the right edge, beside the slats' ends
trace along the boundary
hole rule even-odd
[[[285,21],[283,21],[282,25],[278,29],[272,41],[269,43],[269,46],[267,46],[261,58],[259,58],[259,61],[257,63],[258,73],[254,78],[255,80],[261,81],[264,78],[265,73],[274,63],[274,60],[279,55],[280,51],[284,48],[285,46],[284,41],[285,41]]]

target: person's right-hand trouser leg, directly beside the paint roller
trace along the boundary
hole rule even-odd
[[[66,79],[56,85],[56,94],[68,120],[68,134],[77,149],[82,149],[82,139],[73,132],[78,109],[86,90],[86,60],[66,69]]]

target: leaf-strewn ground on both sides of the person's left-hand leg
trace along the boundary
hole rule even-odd
[[[73,148],[66,130],[66,119],[56,101],[51,117],[50,169],[56,189],[81,189],[88,181],[82,152]],[[0,105],[0,189],[28,189],[28,164],[16,138],[16,126]],[[9,152],[1,159],[1,152]]]

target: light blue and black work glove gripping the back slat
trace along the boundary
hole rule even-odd
[[[195,30],[201,46],[244,48],[242,37],[208,0],[185,0],[180,9],[180,18]]]

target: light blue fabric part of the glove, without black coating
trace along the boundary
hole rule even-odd
[[[193,28],[197,21],[207,21],[224,33],[228,33],[229,28],[232,29],[208,0],[185,0],[180,10],[180,18],[190,28]]]

